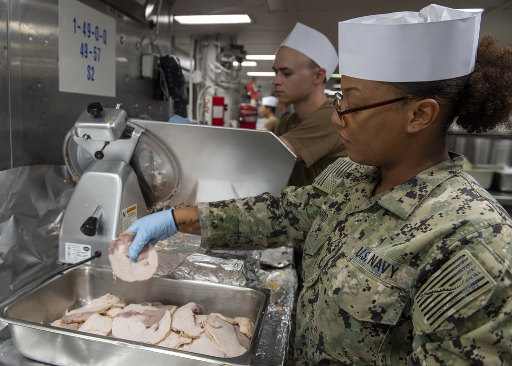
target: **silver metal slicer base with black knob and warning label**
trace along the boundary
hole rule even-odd
[[[96,234],[85,235],[80,227],[98,206],[101,216]],[[111,268],[111,241],[145,215],[147,207],[132,167],[117,160],[93,162],[77,182],[66,209],[59,235],[59,261],[76,263],[100,250],[103,255],[94,265]]]

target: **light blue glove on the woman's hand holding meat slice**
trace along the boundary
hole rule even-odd
[[[137,234],[129,250],[130,259],[135,262],[147,243],[155,245],[159,240],[176,234],[178,228],[174,220],[173,209],[169,209],[139,218],[126,231]]]

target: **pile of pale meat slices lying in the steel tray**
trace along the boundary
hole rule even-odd
[[[247,352],[254,330],[248,318],[205,313],[195,302],[181,307],[161,302],[125,306],[109,293],[67,312],[51,325],[215,357]]]

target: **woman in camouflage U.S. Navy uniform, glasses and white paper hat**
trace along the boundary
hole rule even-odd
[[[178,230],[203,248],[305,240],[297,365],[512,364],[512,218],[446,149],[510,129],[512,47],[479,42],[480,12],[338,24],[347,146],[311,186],[161,211],[137,220],[130,257]]]

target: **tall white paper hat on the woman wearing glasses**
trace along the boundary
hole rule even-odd
[[[428,82],[470,74],[481,13],[429,5],[338,24],[339,72],[381,82]]]

